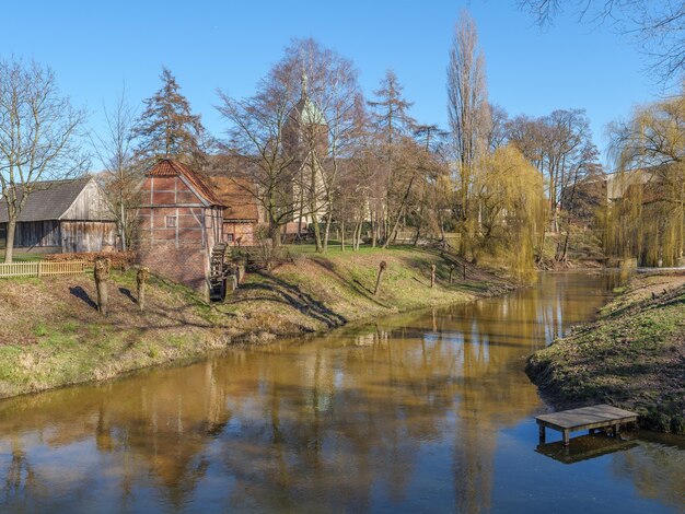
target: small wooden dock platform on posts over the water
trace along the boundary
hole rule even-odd
[[[571,432],[588,430],[593,433],[595,429],[612,428],[614,435],[616,435],[622,424],[635,423],[637,420],[638,414],[635,412],[618,409],[611,405],[594,405],[552,414],[541,414],[535,418],[539,428],[541,443],[545,442],[545,429],[554,429],[561,432],[565,446],[569,445]]]

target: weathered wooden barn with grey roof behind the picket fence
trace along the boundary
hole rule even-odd
[[[21,191],[20,191],[21,194]],[[113,250],[116,222],[94,178],[36,183],[14,232],[14,248],[32,253]],[[0,248],[7,247],[7,202],[0,201]]]

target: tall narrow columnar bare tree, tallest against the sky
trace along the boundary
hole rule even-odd
[[[487,95],[485,57],[478,46],[476,24],[464,12],[454,30],[448,68],[448,110],[458,180],[462,254],[465,254],[465,244],[474,230],[471,189],[488,143],[490,109]]]

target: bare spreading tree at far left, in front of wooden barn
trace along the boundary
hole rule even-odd
[[[4,261],[12,262],[19,217],[44,180],[83,171],[76,145],[85,120],[62,96],[49,68],[0,60],[0,187],[8,210]]]

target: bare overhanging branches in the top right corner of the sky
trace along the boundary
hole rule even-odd
[[[664,83],[678,82],[685,72],[685,3],[678,0],[516,0],[542,26],[566,11],[593,24],[612,26],[635,39]]]

